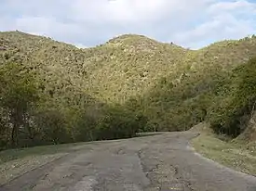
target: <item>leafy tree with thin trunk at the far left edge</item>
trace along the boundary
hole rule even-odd
[[[33,73],[20,64],[0,66],[0,108],[7,112],[11,128],[11,145],[18,146],[18,134],[29,121],[27,114],[39,99]],[[7,124],[6,124],[7,125]]]

